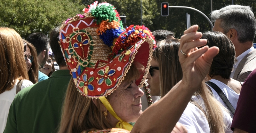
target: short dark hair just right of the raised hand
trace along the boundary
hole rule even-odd
[[[226,35],[218,31],[206,32],[202,38],[207,39],[206,45],[209,47],[217,46],[220,49],[219,54],[213,58],[209,76],[220,75],[222,78],[229,79],[236,60],[233,43]]]

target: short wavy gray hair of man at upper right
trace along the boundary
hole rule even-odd
[[[256,19],[251,7],[228,5],[213,11],[211,17],[214,20],[220,20],[220,27],[224,30],[224,34],[227,34],[230,29],[236,29],[240,43],[253,41],[256,33]]]

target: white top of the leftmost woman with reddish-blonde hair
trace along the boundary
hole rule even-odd
[[[4,132],[4,128],[6,126],[7,116],[9,113],[9,108],[12,104],[12,101],[14,97],[16,96],[16,85],[18,83],[18,80],[16,80],[16,83],[14,87],[11,90],[4,91],[0,94],[0,133]],[[29,80],[24,80],[21,85],[21,90],[33,85],[32,82]]]

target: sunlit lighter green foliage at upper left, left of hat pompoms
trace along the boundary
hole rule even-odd
[[[62,21],[83,13],[84,8],[70,0],[3,0],[0,7],[0,26],[15,29],[23,38],[33,32],[47,35]]]

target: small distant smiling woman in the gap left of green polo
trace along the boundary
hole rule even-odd
[[[44,64],[43,68],[40,68],[40,71],[50,77],[52,73],[55,71],[54,65],[53,65],[53,58],[52,58],[52,52],[49,52],[49,57],[47,61]]]

